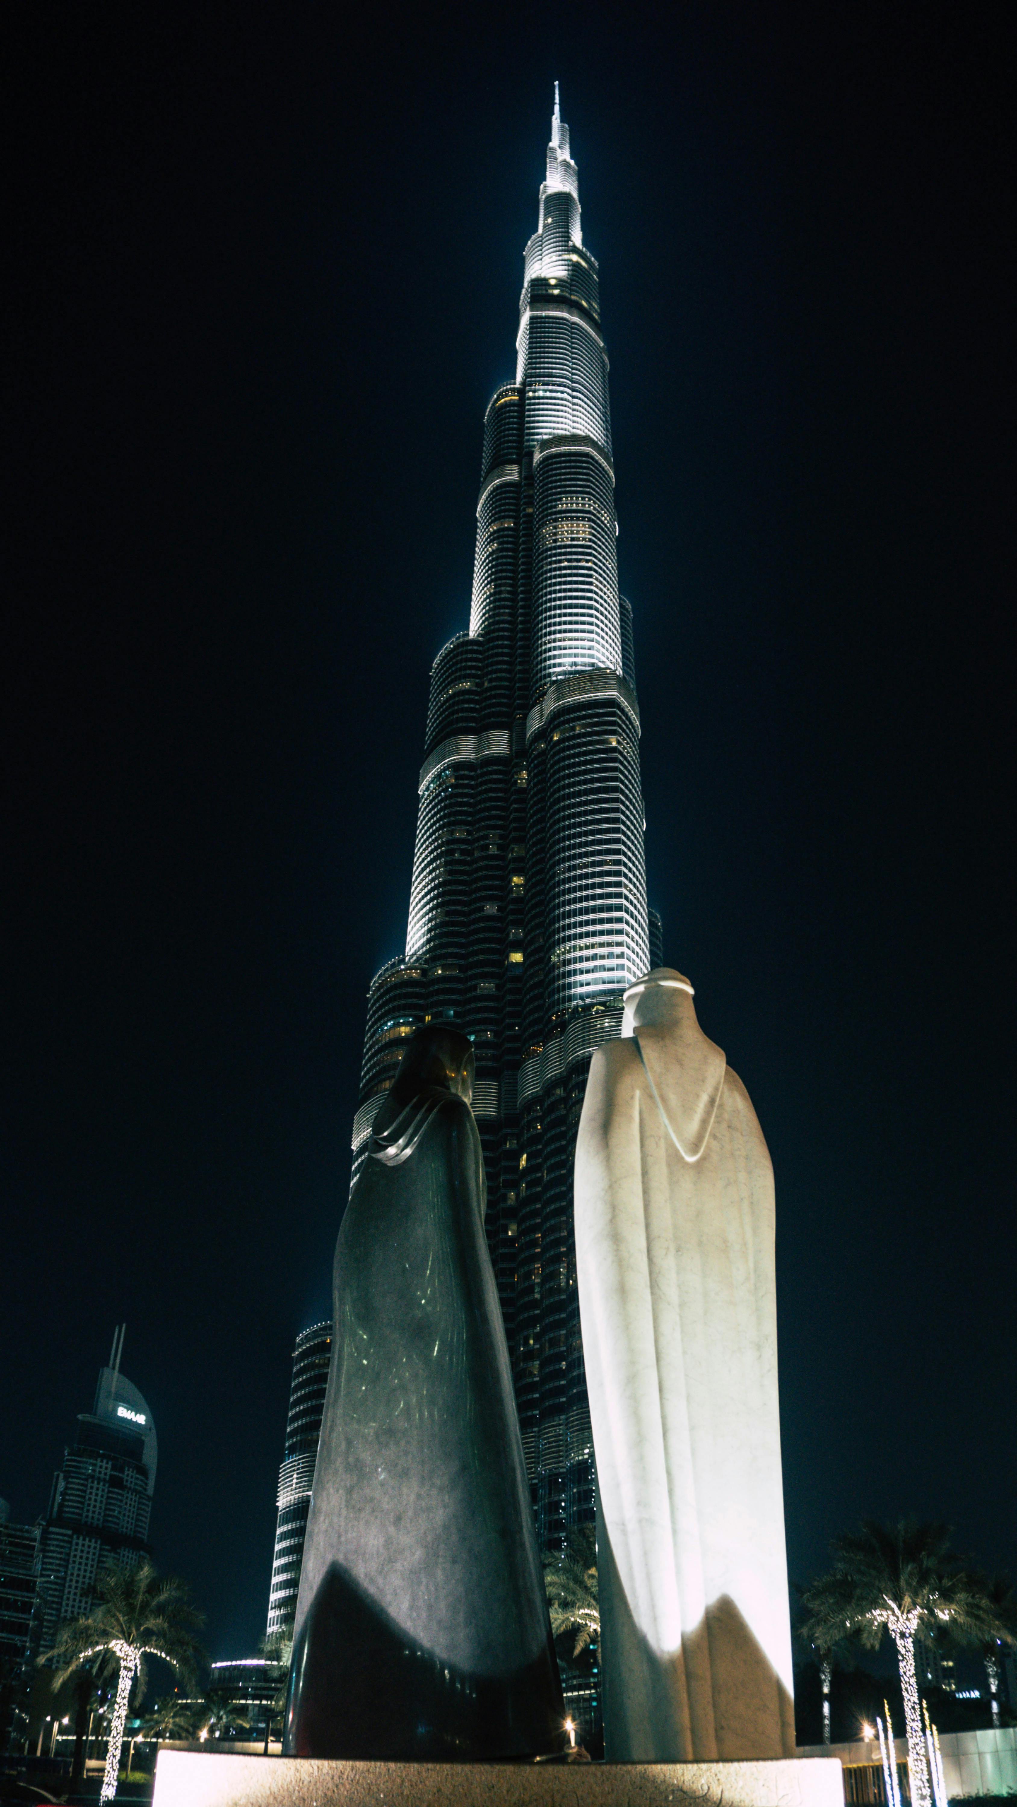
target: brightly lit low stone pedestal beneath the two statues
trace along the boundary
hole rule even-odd
[[[159,1751],[154,1807],[844,1807],[838,1758],[345,1764]]]

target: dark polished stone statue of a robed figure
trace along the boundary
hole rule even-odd
[[[471,1086],[464,1034],[412,1035],[341,1222],[291,1756],[565,1744]]]

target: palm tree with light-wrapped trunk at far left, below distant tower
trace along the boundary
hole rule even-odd
[[[96,1605],[83,1619],[72,1619],[45,1653],[54,1659],[54,1686],[60,1688],[85,1662],[96,1673],[117,1671],[117,1695],[107,1747],[107,1773],[99,1800],[112,1802],[117,1791],[123,1727],[130,1690],[137,1679],[137,1699],[148,1682],[146,1657],[161,1657],[177,1675],[191,1677],[201,1659],[197,1644],[199,1614],[188,1605],[182,1581],[161,1581],[145,1558],[137,1568],[107,1568],[96,1588]]]

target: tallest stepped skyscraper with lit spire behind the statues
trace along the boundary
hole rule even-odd
[[[406,952],[370,985],[352,1138],[356,1178],[406,1037],[459,1019],[546,1545],[594,1518],[573,1241],[585,1077],[650,940],[661,960],[616,535],[598,264],[555,90],[517,374],[484,419],[470,631],[432,667]]]

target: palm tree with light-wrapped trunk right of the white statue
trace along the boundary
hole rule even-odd
[[[876,1650],[889,1632],[907,1722],[907,1764],[914,1807],[930,1807],[921,1735],[914,1644],[948,1634],[957,1644],[1010,1637],[984,1581],[950,1552],[947,1525],[901,1520],[892,1531],[867,1518],[858,1532],[833,1541],[833,1568],[802,1594],[802,1634],[820,1648],[854,1637]]]

